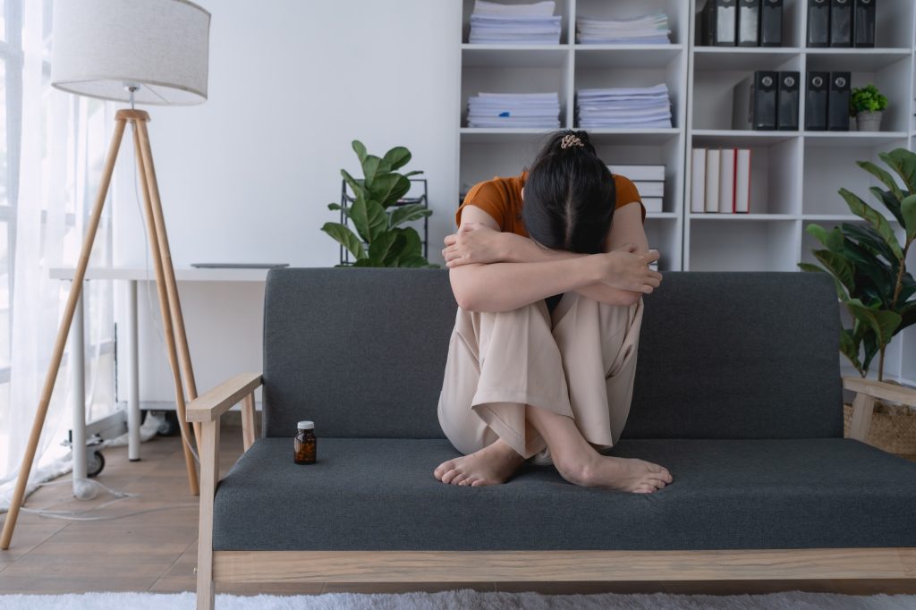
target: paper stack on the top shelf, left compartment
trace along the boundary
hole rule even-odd
[[[554,0],[533,5],[474,2],[472,44],[549,45],[560,43],[561,16],[554,16]]]

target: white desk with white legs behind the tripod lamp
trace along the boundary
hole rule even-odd
[[[51,267],[52,279],[69,279],[76,274],[74,267]],[[140,375],[139,347],[136,324],[136,284],[139,281],[155,281],[153,269],[144,267],[90,267],[86,270],[86,281],[121,280],[127,282],[127,320],[126,320],[126,361],[127,361],[127,457],[131,461],[140,459]],[[176,267],[175,280],[178,282],[264,282],[267,269],[251,268],[207,268]],[[73,314],[71,326],[71,374],[74,380],[85,378],[85,344],[83,343],[82,298]],[[79,384],[79,382],[77,381]],[[82,384],[73,392],[73,480],[86,478],[86,452],[77,451],[85,447],[86,418],[85,392],[79,392]],[[183,391],[183,388],[182,388]]]

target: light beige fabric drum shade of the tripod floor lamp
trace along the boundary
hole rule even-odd
[[[187,0],[55,0],[51,84],[136,103],[207,99],[210,13]]]

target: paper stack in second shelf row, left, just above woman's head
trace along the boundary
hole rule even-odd
[[[467,103],[469,127],[560,127],[559,93],[480,93]]]

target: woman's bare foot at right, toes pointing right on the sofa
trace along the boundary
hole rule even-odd
[[[667,468],[635,458],[619,458],[596,453],[582,456],[578,463],[554,460],[562,477],[575,485],[605,487],[634,494],[651,494],[671,483]]]

